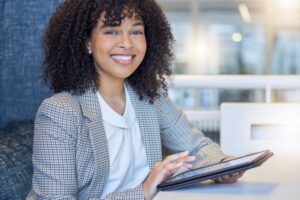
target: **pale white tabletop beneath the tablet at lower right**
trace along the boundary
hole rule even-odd
[[[300,156],[274,155],[247,171],[234,184],[207,181],[174,191],[161,191],[154,200],[299,200]]]

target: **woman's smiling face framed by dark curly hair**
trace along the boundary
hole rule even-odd
[[[147,43],[143,21],[124,18],[119,26],[105,26],[101,15],[87,48],[92,51],[95,67],[101,77],[124,80],[144,59]]]

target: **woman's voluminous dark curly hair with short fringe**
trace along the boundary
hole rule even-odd
[[[154,0],[66,0],[53,14],[45,32],[44,80],[54,93],[81,95],[88,88],[97,87],[99,76],[86,40],[103,12],[105,24],[121,24],[122,19],[133,14],[142,19],[147,51],[127,81],[140,99],[146,95],[153,102],[160,88],[167,92],[164,77],[172,74],[174,42],[170,25]]]

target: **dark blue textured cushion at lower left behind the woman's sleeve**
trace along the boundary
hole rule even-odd
[[[0,130],[0,199],[24,200],[31,189],[33,120]]]

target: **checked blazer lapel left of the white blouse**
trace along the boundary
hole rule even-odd
[[[78,96],[82,113],[87,119],[87,127],[94,151],[95,174],[91,183],[95,196],[100,196],[109,175],[108,143],[102,121],[102,114],[97,95],[93,89]],[[101,181],[99,181],[101,180]]]

